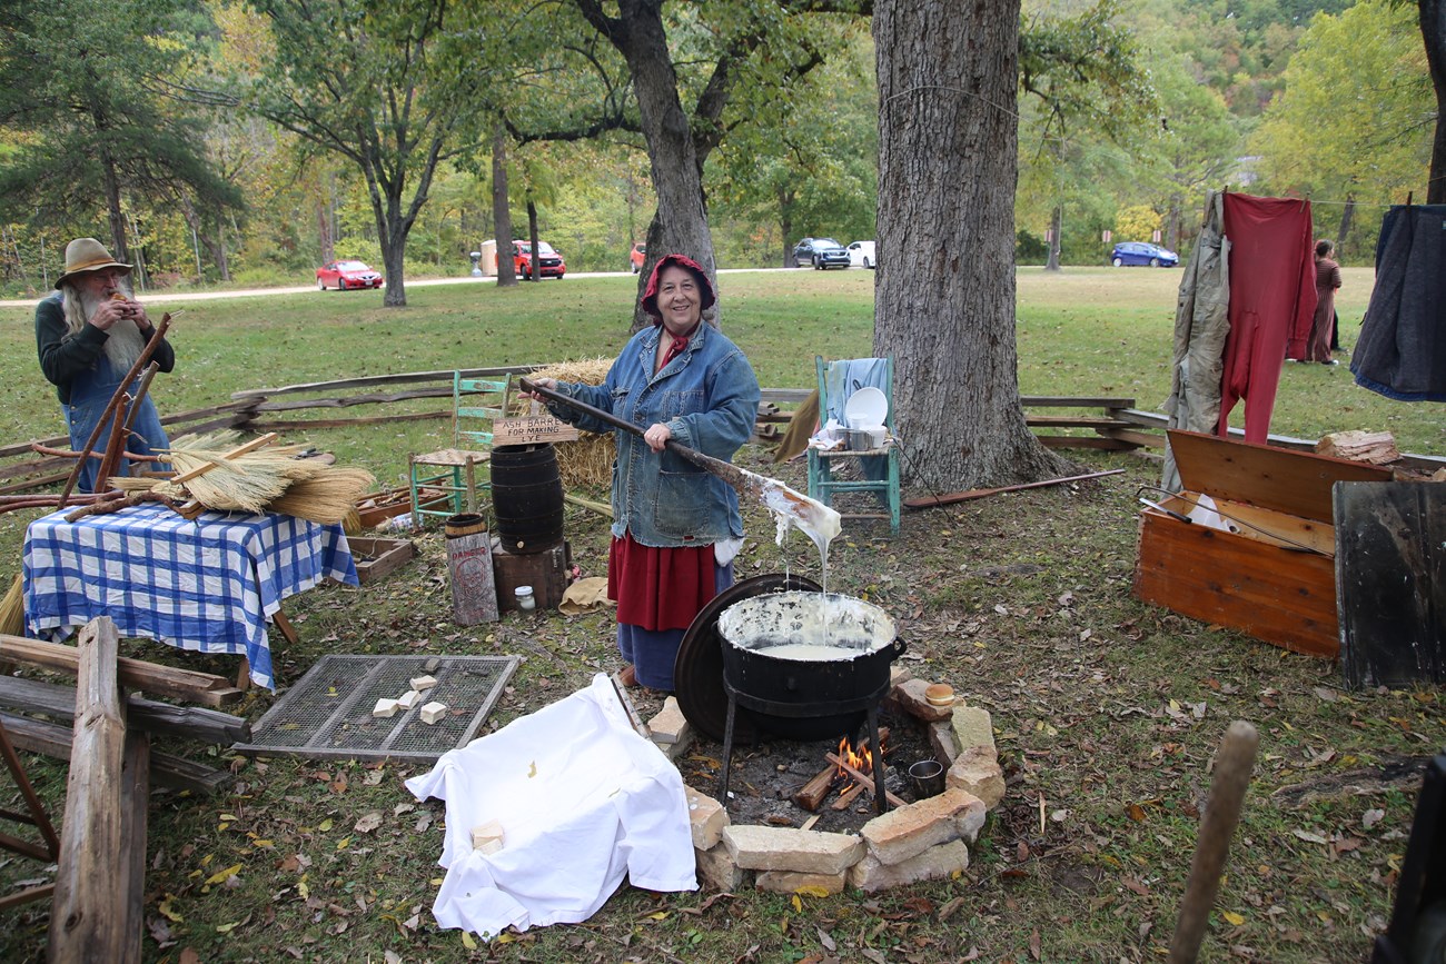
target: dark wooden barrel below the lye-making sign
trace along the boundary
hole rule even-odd
[[[492,512],[508,552],[542,552],[562,541],[562,478],[552,442],[492,449]]]

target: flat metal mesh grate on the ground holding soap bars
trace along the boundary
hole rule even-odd
[[[252,741],[234,749],[434,762],[476,736],[518,663],[516,656],[322,656],[252,728]],[[437,685],[415,707],[386,720],[372,715],[377,700],[401,697],[427,673]],[[447,704],[447,715],[422,723],[421,708],[434,700]]]

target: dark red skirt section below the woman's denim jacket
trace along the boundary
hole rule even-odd
[[[713,546],[645,546],[628,532],[607,554],[607,598],[617,621],[646,630],[687,629],[717,595]]]

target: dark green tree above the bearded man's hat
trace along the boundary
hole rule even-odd
[[[0,204],[32,223],[84,224],[104,211],[110,250],[132,260],[127,207],[185,197],[239,208],[204,143],[191,4],[13,0],[0,20],[0,124],[23,132],[0,169]],[[204,101],[204,98],[201,98]]]

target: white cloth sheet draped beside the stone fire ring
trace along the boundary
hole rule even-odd
[[[683,778],[638,734],[607,676],[451,750],[406,780],[447,802],[432,913],[444,928],[493,937],[586,921],[623,876],[648,890],[696,890]],[[493,854],[471,828],[502,824]]]

